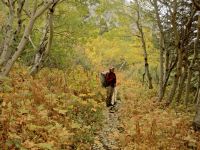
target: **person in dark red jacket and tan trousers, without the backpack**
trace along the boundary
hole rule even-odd
[[[106,106],[113,106],[112,104],[112,97],[116,87],[116,75],[115,75],[115,68],[110,67],[109,72],[106,74],[106,84],[107,84],[107,98],[106,98]]]

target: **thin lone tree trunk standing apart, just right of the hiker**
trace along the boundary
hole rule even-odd
[[[143,28],[140,22],[140,6],[138,3],[138,0],[136,0],[136,5],[137,5],[137,28],[140,32],[140,37],[141,37],[141,41],[142,41],[142,48],[144,51],[144,62],[145,62],[145,75],[148,78],[148,84],[149,84],[149,89],[153,89],[153,84],[152,84],[152,77],[149,71],[149,64],[148,64],[148,55],[147,55],[147,48],[146,48],[146,42],[145,42],[145,38],[144,38],[144,32],[143,32]]]

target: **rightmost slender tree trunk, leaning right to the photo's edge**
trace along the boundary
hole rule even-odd
[[[195,61],[198,56],[198,43],[199,43],[199,38],[200,38],[200,16],[198,17],[198,25],[197,25],[197,37],[196,40],[194,41],[194,56],[192,59],[192,62],[190,63],[189,70],[188,70],[188,78],[187,78],[187,84],[186,84],[186,94],[185,94],[185,105],[187,106],[189,100],[189,93],[190,93],[190,85],[191,85],[191,78],[192,78],[192,67],[195,64]]]

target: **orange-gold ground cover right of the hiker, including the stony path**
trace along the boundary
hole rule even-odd
[[[193,108],[165,108],[157,102],[156,90],[133,80],[126,80],[119,90],[117,111],[105,111],[104,128],[96,141],[102,145],[99,149],[200,150],[200,134],[191,126]]]

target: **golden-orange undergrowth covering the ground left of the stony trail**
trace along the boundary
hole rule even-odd
[[[0,80],[1,149],[89,149],[102,126],[104,98],[95,73],[17,67]]]

